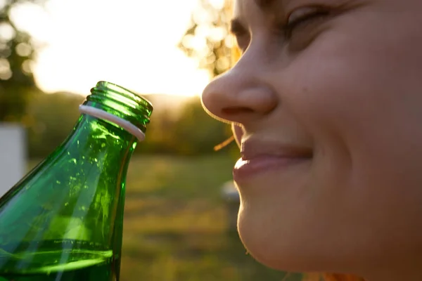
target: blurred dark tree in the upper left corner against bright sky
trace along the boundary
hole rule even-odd
[[[5,0],[0,2],[0,122],[22,122],[28,95],[37,90],[30,63],[35,50],[30,34],[11,20],[11,10],[36,0]]]

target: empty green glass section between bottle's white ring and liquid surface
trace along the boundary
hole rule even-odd
[[[119,126],[81,115],[63,144],[2,197],[3,241],[95,241],[114,247],[136,144],[137,138]],[[22,189],[25,196],[7,204]],[[36,222],[23,223],[28,218]]]

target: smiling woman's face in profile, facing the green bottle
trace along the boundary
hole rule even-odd
[[[422,259],[422,1],[237,0],[203,105],[234,124],[238,230],[280,270]]]

